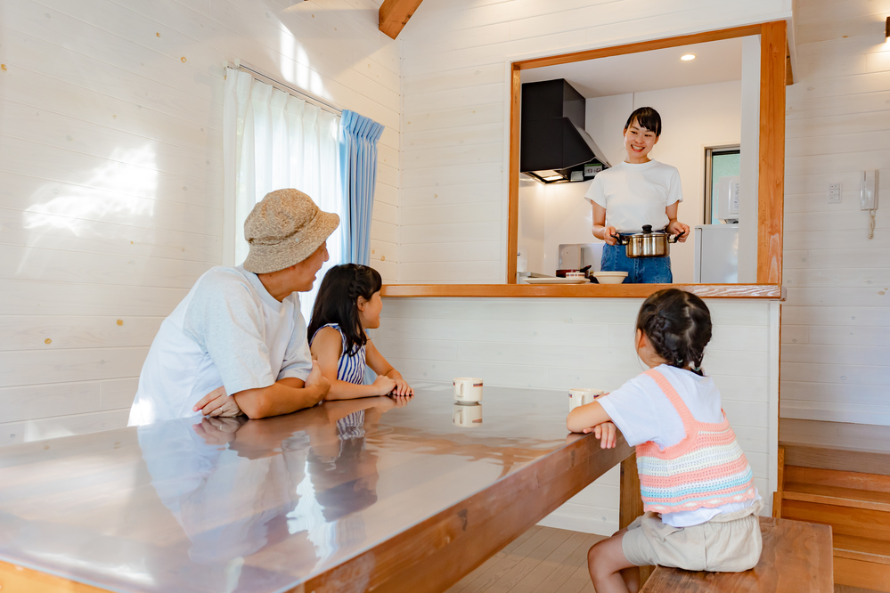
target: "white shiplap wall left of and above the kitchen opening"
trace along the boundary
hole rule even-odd
[[[790,11],[790,0],[424,0],[401,36],[399,281],[504,280],[507,61]]]

